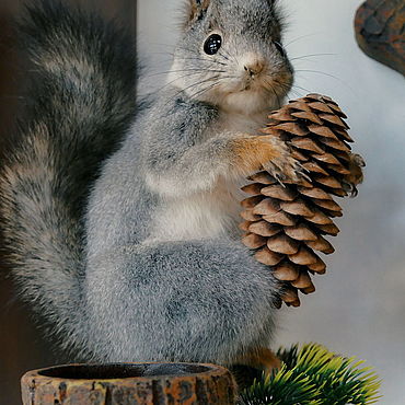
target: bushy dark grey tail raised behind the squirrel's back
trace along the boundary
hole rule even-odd
[[[20,34],[35,77],[0,175],[3,233],[23,298],[77,342],[85,327],[83,211],[135,116],[135,48],[113,23],[56,0],[28,7]]]

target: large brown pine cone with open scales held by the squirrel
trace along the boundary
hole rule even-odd
[[[332,254],[324,238],[337,235],[333,218],[342,217],[334,196],[357,195],[362,182],[361,157],[351,153],[347,118],[329,97],[309,94],[273,113],[263,132],[286,141],[308,173],[299,183],[280,184],[267,172],[252,177],[242,189],[252,195],[242,201],[243,243],[256,250],[258,262],[271,266],[285,285],[282,300],[299,306],[298,291],[315,291],[311,275],[324,274],[325,263],[315,253]],[[281,305],[281,302],[280,302]]]

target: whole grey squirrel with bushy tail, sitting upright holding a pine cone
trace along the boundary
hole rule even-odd
[[[241,243],[240,186],[304,173],[259,135],[293,83],[276,0],[187,0],[165,84],[135,102],[113,23],[40,0],[30,118],[0,175],[22,296],[96,361],[269,370],[282,288]]]

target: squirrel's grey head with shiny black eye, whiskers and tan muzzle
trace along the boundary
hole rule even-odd
[[[279,107],[293,71],[277,0],[187,0],[169,81],[228,111]]]

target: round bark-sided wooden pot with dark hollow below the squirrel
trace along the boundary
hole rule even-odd
[[[21,379],[24,405],[235,404],[232,374],[213,364],[71,364],[30,371]]]

